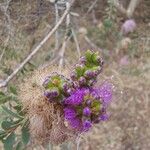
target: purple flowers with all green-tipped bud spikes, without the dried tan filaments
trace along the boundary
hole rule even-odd
[[[62,106],[65,120],[78,132],[86,132],[93,124],[108,119],[106,109],[112,99],[112,85],[105,82],[94,87],[102,67],[99,54],[87,51],[70,79],[55,73],[43,82],[45,98]]]

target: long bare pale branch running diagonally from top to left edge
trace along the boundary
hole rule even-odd
[[[46,41],[55,33],[55,31],[58,29],[58,27],[61,25],[68,12],[70,11],[73,2],[74,0],[71,1],[69,7],[66,8],[62,17],[59,19],[54,28],[47,34],[47,36],[35,47],[35,49],[27,56],[27,58],[24,59],[24,61],[14,70],[14,72],[10,76],[8,76],[6,80],[0,83],[0,87],[5,87],[8,82],[14,78],[14,76],[24,67],[24,65],[31,60],[31,58],[40,50],[40,48],[46,43]]]

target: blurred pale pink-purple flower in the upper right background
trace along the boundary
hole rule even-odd
[[[133,19],[126,20],[125,23],[121,27],[121,31],[123,34],[128,34],[129,32],[133,32],[136,28],[136,23]]]

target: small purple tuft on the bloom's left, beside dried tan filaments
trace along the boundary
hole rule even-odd
[[[76,114],[74,109],[72,109],[72,108],[65,108],[64,109],[64,115],[65,115],[65,119],[66,120],[71,120],[71,119],[74,119],[77,114]]]

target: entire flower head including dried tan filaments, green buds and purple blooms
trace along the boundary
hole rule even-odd
[[[95,86],[103,60],[87,51],[72,72],[57,66],[35,71],[21,87],[20,98],[29,118],[31,138],[37,143],[61,144],[108,119],[112,85]]]

